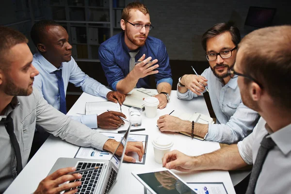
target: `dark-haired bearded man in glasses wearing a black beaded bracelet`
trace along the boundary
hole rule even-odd
[[[179,78],[177,96],[180,99],[193,99],[206,92],[202,84],[208,87],[216,124],[195,123],[194,135],[209,141],[237,143],[252,132],[259,120],[259,114],[242,103],[238,77],[227,74],[234,65],[240,40],[239,29],[233,24],[215,24],[202,36],[210,67],[199,77],[192,74]],[[163,115],[157,123],[161,131],[192,133],[192,122],[178,117]]]

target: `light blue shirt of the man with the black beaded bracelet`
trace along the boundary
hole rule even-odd
[[[216,115],[216,124],[209,125],[206,140],[224,144],[241,141],[252,132],[258,123],[259,114],[242,103],[238,76],[234,76],[226,85],[214,76],[210,67],[205,69],[201,76],[208,80],[210,101]],[[177,90],[177,96],[184,100],[197,97],[190,90],[186,93]]]

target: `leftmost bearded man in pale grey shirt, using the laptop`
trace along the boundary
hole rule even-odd
[[[32,88],[34,77],[39,72],[32,65],[27,42],[22,33],[0,27],[0,193],[27,164],[36,124],[77,146],[92,146],[111,152],[118,146],[115,140],[57,111],[38,90]],[[139,160],[144,154],[141,142],[129,142],[126,150],[137,152]],[[118,152],[121,155],[122,149]],[[124,159],[135,162],[129,156]],[[40,182],[35,193],[57,194],[78,187],[81,181],[60,185],[81,178],[80,174],[66,175],[75,170],[68,167],[54,172]]]

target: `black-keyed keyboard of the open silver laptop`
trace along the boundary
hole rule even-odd
[[[82,178],[77,179],[81,180],[82,184],[78,187],[78,192],[76,194],[94,194],[96,190],[97,182],[99,181],[99,177],[101,175],[104,163],[100,162],[78,162],[76,171],[83,170],[87,168],[93,168],[95,166],[99,166],[98,169],[89,170],[82,172]],[[75,182],[76,180],[70,181]]]

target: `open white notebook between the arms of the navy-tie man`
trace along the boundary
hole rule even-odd
[[[86,115],[88,114],[102,114],[107,112],[107,109],[111,111],[121,112],[121,107],[119,103],[114,103],[110,101],[104,102],[86,102]]]

